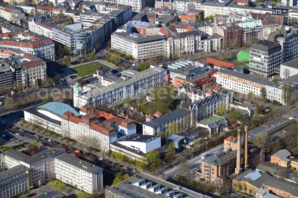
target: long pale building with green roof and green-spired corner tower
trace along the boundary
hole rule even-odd
[[[115,103],[127,96],[148,94],[152,86],[159,87],[166,82],[167,72],[161,67],[149,68],[142,72],[131,69],[121,72],[124,79],[108,86],[89,86],[89,91],[81,92],[78,84],[74,88],[74,106],[81,108],[85,104],[99,107],[104,103]]]

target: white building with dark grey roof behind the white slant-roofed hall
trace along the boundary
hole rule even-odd
[[[191,111],[185,108],[179,108],[164,115],[157,111],[153,116],[149,115],[146,122],[143,123],[143,134],[145,135],[154,136],[159,131],[166,133],[167,127],[173,122],[179,124],[180,130],[193,125]]]

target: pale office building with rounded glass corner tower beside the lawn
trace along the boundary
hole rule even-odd
[[[91,49],[91,35],[82,23],[52,28],[52,39],[71,48],[71,54],[87,55]]]

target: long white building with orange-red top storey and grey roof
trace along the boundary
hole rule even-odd
[[[226,89],[235,90],[239,93],[261,95],[261,89],[270,81],[250,76],[233,70],[219,70],[216,82]]]

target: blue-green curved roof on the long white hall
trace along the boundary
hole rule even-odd
[[[71,106],[60,103],[60,102],[49,102],[46,104],[43,104],[41,106],[36,107],[36,110],[44,110],[49,111],[57,116],[62,116],[66,111],[71,111],[76,116],[79,116],[80,114]]]

